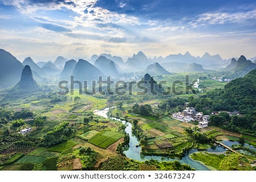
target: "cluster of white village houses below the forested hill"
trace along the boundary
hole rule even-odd
[[[172,118],[183,122],[198,121],[199,128],[208,127],[210,116],[197,112],[193,107],[188,107],[188,105],[189,103],[185,102],[185,109],[182,112],[173,113]]]

